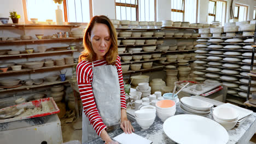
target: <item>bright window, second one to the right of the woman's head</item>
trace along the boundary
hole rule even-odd
[[[171,19],[172,21],[188,21],[195,23],[197,21],[197,0],[172,0],[171,1]]]

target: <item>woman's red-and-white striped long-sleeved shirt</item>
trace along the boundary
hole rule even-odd
[[[107,62],[104,59],[98,60],[94,62],[94,67],[98,67],[101,65],[107,65]],[[120,62],[120,57],[117,57],[117,61],[115,63],[115,67],[117,67],[117,73],[119,77],[119,85],[120,85],[120,100],[121,100],[121,108],[126,109],[125,103],[125,91],[124,91],[124,81],[123,81],[123,73]],[[79,87],[80,97],[83,103],[83,110],[85,115],[89,118],[90,124],[96,131],[97,135],[100,136],[102,130],[106,129],[106,125],[102,122],[102,118],[98,113],[98,109],[94,99],[94,93],[92,92],[92,79],[94,74],[92,73],[92,63],[88,61],[81,61],[77,65],[77,83]]]

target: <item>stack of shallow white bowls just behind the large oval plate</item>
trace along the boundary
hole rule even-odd
[[[207,116],[211,113],[213,104],[196,98],[183,97],[179,106],[184,113]]]

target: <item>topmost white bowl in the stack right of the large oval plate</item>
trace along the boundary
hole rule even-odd
[[[238,113],[230,107],[216,107],[212,112],[213,116],[226,122],[234,122],[238,119]]]

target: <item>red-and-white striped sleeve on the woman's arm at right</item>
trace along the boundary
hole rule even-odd
[[[117,57],[117,62],[115,63],[115,67],[117,67],[117,71],[118,71],[121,108],[126,109],[123,72],[122,72],[121,61],[119,56]]]

